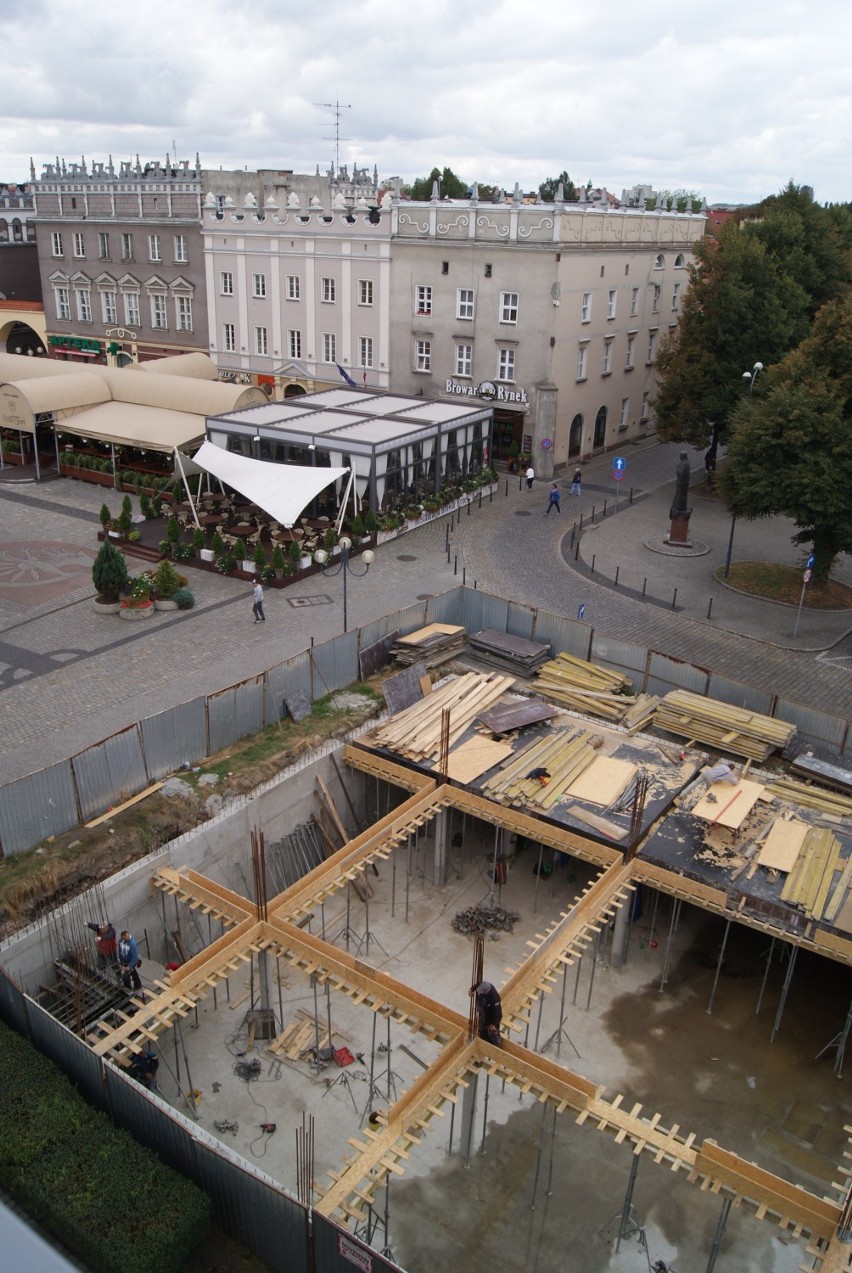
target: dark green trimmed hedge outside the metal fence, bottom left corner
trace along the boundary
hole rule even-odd
[[[210,1199],[0,1023],[0,1185],[94,1273],[178,1273]]]

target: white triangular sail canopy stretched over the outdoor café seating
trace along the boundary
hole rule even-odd
[[[247,495],[281,526],[293,526],[321,490],[349,472],[349,468],[309,468],[248,460],[213,442],[205,442],[192,460],[219,481]]]

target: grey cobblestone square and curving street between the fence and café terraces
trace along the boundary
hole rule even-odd
[[[832,661],[849,628],[846,615],[802,616],[727,593],[711,579],[723,560],[730,521],[713,502],[694,499],[692,533],[709,552],[672,563],[644,546],[667,530],[678,447],[627,448],[633,504],[611,480],[611,457],[585,468],[583,494],[563,488],[562,516],[545,517],[548,484],[518,489],[503,479],[493,499],[462,512],[450,532],[436,521],[382,545],[366,578],[348,588],[349,625],[367,622],[461,583],[585,619],[597,630],[650,645],[820,710],[852,710],[852,658]],[[698,466],[700,457],[693,456]],[[96,615],[85,561],[97,551],[98,510],[117,513],[121,496],[69,480],[0,480],[0,783],[65,759],[93,742],[197,695],[260,675],[343,626],[341,579],[316,575],[267,589],[269,622],[255,625],[250,586],[191,572],[196,607],[157,614],[139,625]],[[604,500],[607,516],[601,521]],[[611,516],[613,502],[620,512]],[[588,519],[595,510],[595,522]],[[568,514],[583,514],[574,536]],[[790,527],[737,526],[735,559],[792,560]],[[579,544],[579,547],[577,547]],[[574,560],[576,556],[576,560]],[[595,558],[595,573],[590,573]],[[131,569],[134,560],[130,559]],[[29,570],[22,583],[22,570]],[[615,573],[618,587],[614,587]],[[455,573],[457,572],[457,573]],[[848,563],[841,577],[849,578]],[[641,598],[647,578],[646,598]],[[851,580],[852,582],[852,580]],[[671,608],[678,587],[675,608]],[[39,591],[42,589],[42,591]],[[52,589],[52,591],[51,591]],[[712,619],[707,606],[712,597]],[[785,648],[785,647],[796,648]],[[852,653],[848,645],[838,647]]]

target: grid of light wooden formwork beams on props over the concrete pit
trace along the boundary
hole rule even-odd
[[[225,931],[171,973],[168,981],[158,981],[158,993],[153,999],[134,1001],[134,1016],[126,1016],[117,1027],[103,1022],[94,1027],[89,1034],[93,1050],[118,1064],[127,1064],[132,1053],[192,1012],[219,983],[255,955],[269,951],[294,970],[315,978],[318,984],[329,984],[354,1003],[406,1025],[441,1049],[428,1069],[381,1116],[377,1128],[364,1128],[350,1139],[354,1153],[343,1160],[340,1170],[330,1172],[331,1186],[315,1202],[323,1214],[345,1222],[363,1222],[377,1188],[386,1183],[388,1175],[404,1174],[410,1150],[420,1143],[433,1122],[444,1115],[444,1106],[457,1102],[464,1090],[485,1073],[518,1087],[543,1104],[553,1105],[559,1113],[569,1110],[578,1124],[590,1123],[613,1136],[616,1143],[627,1141],[634,1155],[648,1155],[671,1171],[684,1171],[690,1183],[731,1199],[735,1206],[749,1207],[758,1218],[774,1221],[795,1237],[810,1236],[815,1244],[811,1254],[823,1260],[824,1269],[844,1268],[834,1264],[841,1251],[848,1251],[835,1237],[842,1212],[846,1211],[839,1202],[791,1185],[721,1148],[714,1141],[698,1142],[694,1133],[681,1132],[678,1124],[664,1127],[660,1114],[647,1114],[641,1105],[628,1109],[620,1095],[606,1100],[602,1086],[511,1039],[497,1050],[478,1037],[471,1039],[466,1016],[410,989],[302,927],[327,897],[346,889],[371,863],[388,858],[444,808],[508,827],[536,843],[591,862],[599,867],[597,877],[571,909],[563,911],[544,933],[535,934],[535,939],[527,943],[530,953],[509,971],[508,980],[501,987],[504,1022],[511,1031],[522,1032],[529,1030],[540,997],[553,992],[554,983],[564,978],[567,967],[593,943],[601,928],[629,900],[638,882],[647,881],[655,889],[748,923],[745,917],[726,908],[725,895],[642,863],[641,855],[625,862],[618,850],[607,845],[494,805],[471,792],[448,784],[438,785],[432,778],[363,749],[348,747],[345,760],[350,766],[411,794],[271,900],[265,919],[261,908],[195,871],[158,871],[153,878],[155,887],[192,910],[219,920]],[[755,927],[768,929],[785,941],[819,948],[763,922],[755,923]],[[820,953],[829,951],[820,950]],[[834,950],[830,957],[852,961],[848,951]],[[846,1186],[835,1188],[838,1195],[846,1193]]]

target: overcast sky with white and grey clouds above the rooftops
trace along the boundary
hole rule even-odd
[[[0,0],[0,181],[136,154],[852,199],[849,0]],[[345,140],[343,140],[345,139]]]

